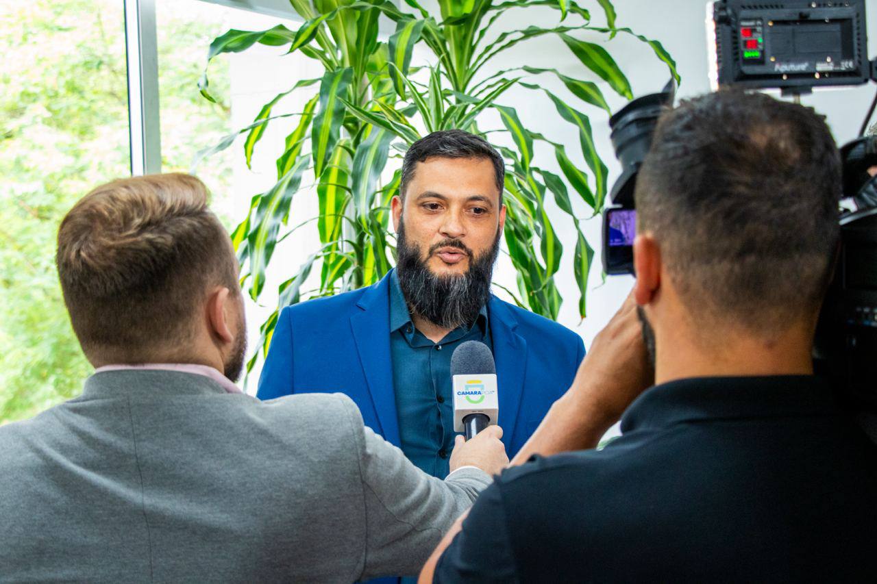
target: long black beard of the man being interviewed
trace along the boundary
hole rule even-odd
[[[409,245],[405,238],[405,224],[399,223],[396,234],[396,273],[408,310],[424,317],[443,329],[471,325],[481,307],[490,299],[490,281],[499,254],[502,231],[496,231],[493,246],[481,255],[475,255],[460,239],[445,239],[430,247],[425,260],[420,248]],[[433,274],[426,261],[441,247],[456,247],[469,256],[465,274]]]

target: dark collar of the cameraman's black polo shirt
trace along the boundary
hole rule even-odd
[[[700,377],[646,389],[624,412],[621,431],[665,428],[695,420],[838,412],[829,384],[813,375]]]

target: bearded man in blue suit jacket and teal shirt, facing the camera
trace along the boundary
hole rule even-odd
[[[514,456],[572,383],[584,345],[490,294],[503,180],[503,158],[473,134],[433,132],[415,142],[392,203],[396,269],[370,288],[283,309],[260,399],[349,395],[367,426],[444,477],[455,443],[451,354],[479,340],[494,353],[498,423]]]

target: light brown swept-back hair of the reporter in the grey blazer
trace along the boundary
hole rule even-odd
[[[110,182],[58,231],[64,302],[82,350],[139,360],[186,342],[207,288],[239,293],[231,240],[203,182],[153,174]]]

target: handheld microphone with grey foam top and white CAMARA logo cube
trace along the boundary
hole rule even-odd
[[[488,345],[466,341],[451,355],[453,380],[453,430],[472,438],[496,425],[496,364]]]

